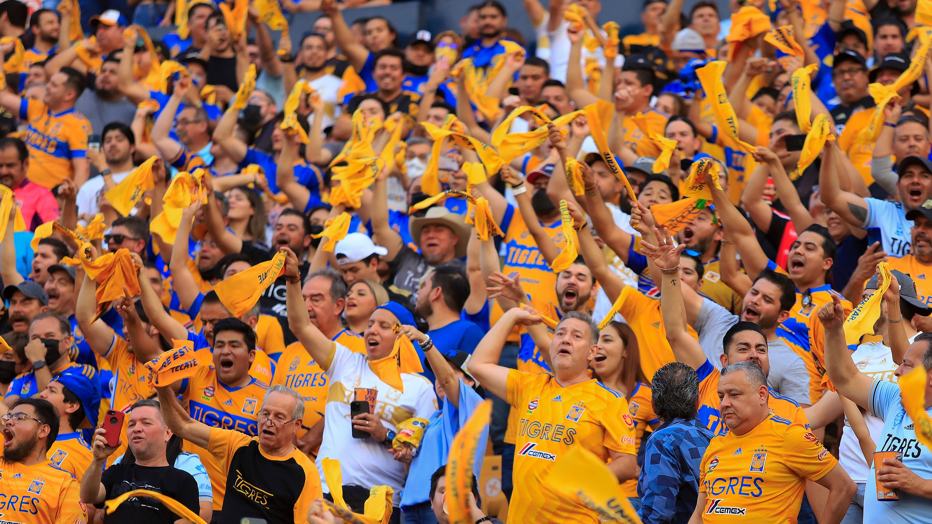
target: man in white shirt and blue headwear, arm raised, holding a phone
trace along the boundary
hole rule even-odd
[[[343,484],[360,486],[388,485],[394,490],[392,505],[398,509],[404,488],[405,465],[411,461],[407,449],[396,452],[391,447],[398,425],[412,418],[430,419],[437,410],[437,397],[431,381],[418,373],[401,373],[403,390],[398,390],[374,371],[373,364],[391,355],[395,339],[404,337],[392,332],[395,324],[414,325],[414,315],[397,302],[386,302],[373,311],[365,330],[365,351],[357,353],[323,335],[308,318],[305,296],[302,296],[298,260],[287,250],[284,276],[288,281],[289,326],[305,350],[326,371],[330,380],[327,406],[324,409],[323,441],[317,454],[318,470],[323,472],[322,459],[338,459]],[[313,296],[308,296],[313,300]],[[399,355],[399,358],[403,358]],[[393,363],[378,366],[386,378]],[[376,406],[350,419],[349,403],[356,390],[376,390]],[[363,393],[364,394],[364,393]],[[369,397],[369,395],[365,395]],[[353,430],[369,434],[354,438]],[[321,473],[324,492],[329,492]]]

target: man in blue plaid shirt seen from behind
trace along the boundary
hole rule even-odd
[[[699,494],[699,463],[712,432],[696,418],[699,376],[672,362],[651,380],[653,409],[664,421],[648,438],[637,480],[644,524],[687,523]]]

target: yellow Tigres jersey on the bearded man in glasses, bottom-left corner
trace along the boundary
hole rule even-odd
[[[27,466],[0,459],[0,515],[21,524],[88,521],[78,480],[48,461]]]

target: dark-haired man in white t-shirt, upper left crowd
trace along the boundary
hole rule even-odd
[[[130,126],[111,122],[103,127],[101,150],[88,148],[90,163],[101,172],[77,190],[75,205],[77,217],[90,222],[94,214],[101,212],[98,200],[114,186],[123,181],[135,167],[132,157],[136,153],[136,135]]]

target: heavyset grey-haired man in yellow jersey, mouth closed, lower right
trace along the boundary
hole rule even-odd
[[[761,367],[752,362],[726,365],[718,390],[729,432],[706,448],[699,468],[702,489],[690,524],[734,522],[735,517],[794,522],[806,479],[829,490],[818,521],[841,522],[857,486],[809,428],[773,414]]]

